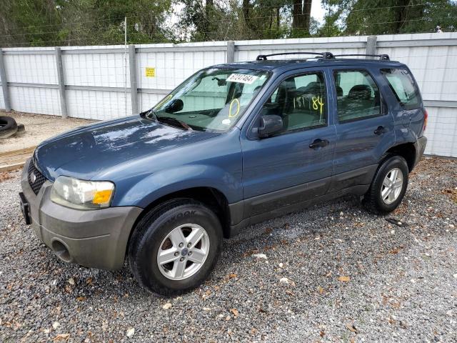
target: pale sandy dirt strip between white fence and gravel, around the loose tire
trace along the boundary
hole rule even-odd
[[[1,110],[0,116],[11,116],[16,119],[18,124],[24,124],[26,128],[26,132],[22,136],[11,136],[7,139],[0,139],[0,154],[6,151],[36,146],[41,141],[44,141],[51,136],[56,136],[56,134],[60,134],[61,132],[94,122],[94,120],[89,119],[62,119],[60,116],[30,114],[16,111],[6,113]]]

